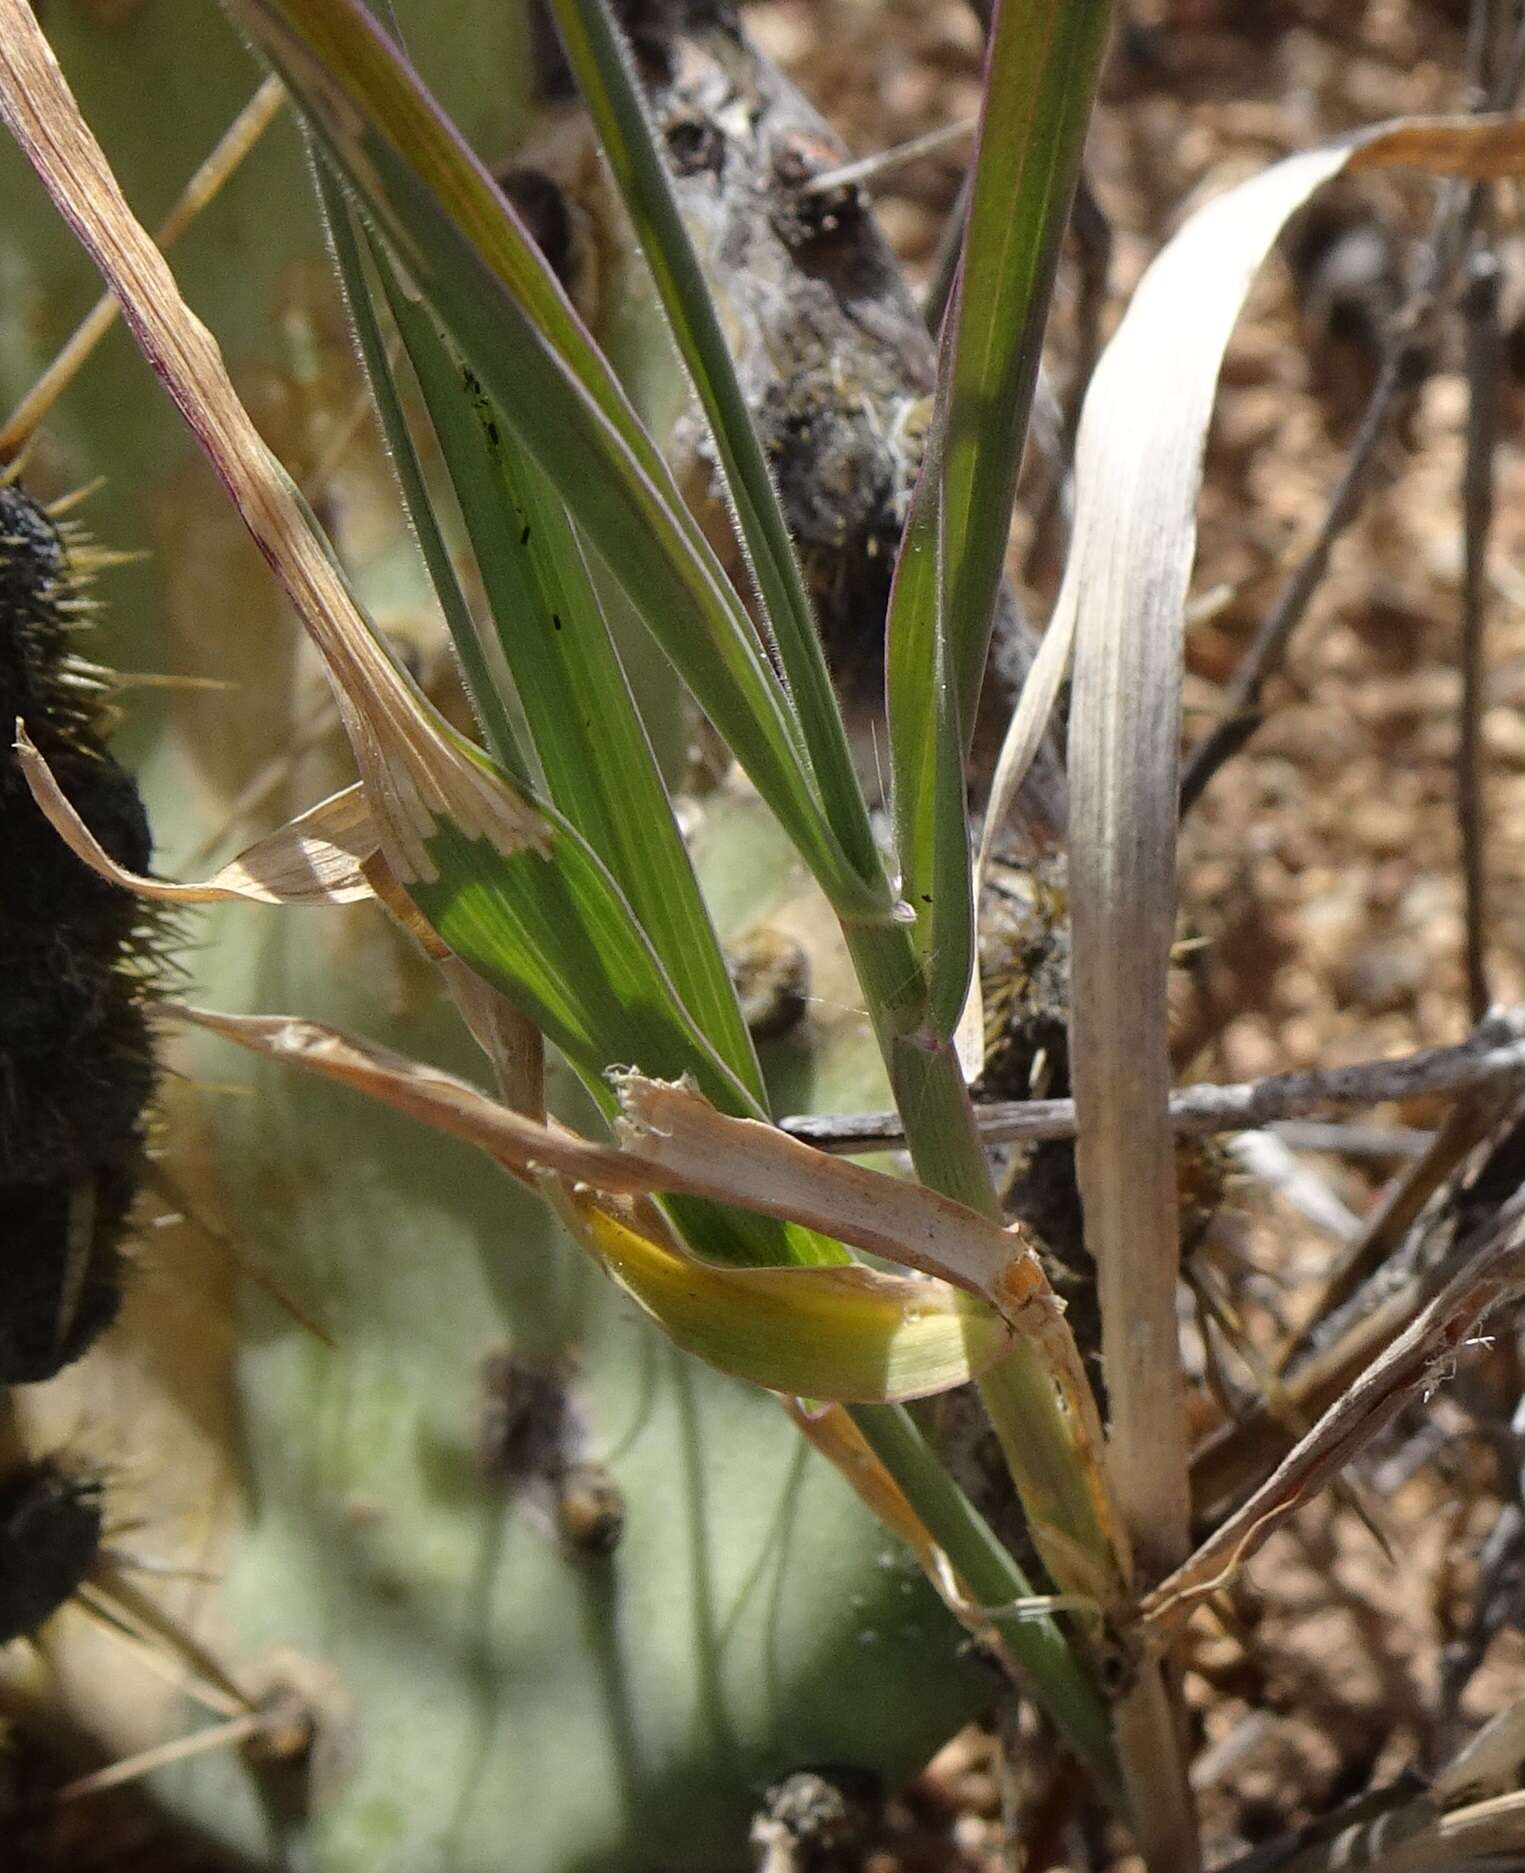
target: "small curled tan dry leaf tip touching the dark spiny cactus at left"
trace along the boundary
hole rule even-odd
[[[167,905],[215,905],[229,899],[251,905],[352,905],[375,895],[365,867],[375,862],[380,841],[358,785],[330,794],[255,841],[206,882],[174,884],[116,863],[69,805],[21,721],[15,753],[32,798],[64,845],[92,871],[139,897]]]

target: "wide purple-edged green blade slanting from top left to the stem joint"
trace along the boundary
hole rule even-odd
[[[888,916],[888,888],[826,822],[744,607],[487,172],[358,0],[238,0],[238,13],[834,905]]]

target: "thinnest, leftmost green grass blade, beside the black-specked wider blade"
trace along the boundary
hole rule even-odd
[[[429,487],[423,479],[423,466],[412,446],[403,399],[397,391],[392,360],[386,352],[386,339],[371,303],[371,287],[365,279],[365,262],[354,229],[354,210],[328,169],[328,163],[317,152],[313,152],[313,176],[317,180],[318,204],[328,227],[328,238],[333,247],[333,262],[345,288],[350,326],[371,386],[371,401],[377,406],[377,420],[380,421],[392,466],[403,489],[403,504],[408,509],[408,521],[412,523],[418,549],[423,554],[423,566],[440,601],[450,641],[455,644],[455,656],[461,659],[466,693],[495,760],[517,779],[528,783],[528,764],[525,762],[498,687],[487,669],[487,659],[481,654],[476,620],[466,603],[466,594],[461,590],[461,581],[455,577],[450,549],[435,519]]]

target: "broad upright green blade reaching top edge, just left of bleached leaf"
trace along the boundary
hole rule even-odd
[[[999,0],[944,333],[948,620],[965,738],[989,650],[1038,354],[1111,0]]]

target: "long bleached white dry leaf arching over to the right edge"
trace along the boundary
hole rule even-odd
[[[1186,1423],[1165,972],[1175,918],[1182,616],[1203,444],[1223,350],[1291,214],[1343,169],[1503,174],[1514,120],[1396,122],[1293,155],[1208,202],[1145,273],[1098,365],[1077,438],[1075,534],[1053,650],[1017,710],[1014,760],[1075,642],[1070,719],[1072,1073],[1087,1240],[1098,1262],[1111,1463],[1139,1570],[1186,1555]],[[995,820],[1000,802],[991,805]]]

